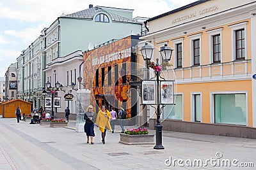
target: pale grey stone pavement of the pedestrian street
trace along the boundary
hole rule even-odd
[[[256,169],[255,139],[163,131],[164,150],[154,150],[118,143],[119,125],[105,145],[97,127],[94,145],[75,127],[74,120],[52,128],[0,117],[0,169]]]

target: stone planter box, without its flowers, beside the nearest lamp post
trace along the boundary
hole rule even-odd
[[[154,134],[120,134],[119,143],[124,143],[125,145],[148,145],[154,144]]]

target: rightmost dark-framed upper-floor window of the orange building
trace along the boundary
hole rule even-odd
[[[236,60],[245,59],[244,29],[236,31]]]

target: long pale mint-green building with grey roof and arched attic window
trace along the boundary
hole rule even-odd
[[[42,34],[17,58],[18,98],[33,103],[33,108],[44,106],[42,92],[45,83],[50,81],[54,86],[53,82],[61,82],[58,78],[65,77],[67,71],[70,76],[75,74],[74,69],[71,73],[69,66],[54,65],[57,60],[67,58],[77,50],[92,50],[104,42],[131,34],[141,34],[141,20],[132,18],[132,11],[90,5],[87,10],[58,17],[48,28],[43,29]],[[72,62],[77,64],[74,68],[78,69],[81,61]],[[54,71],[58,71],[58,67],[63,71],[55,76]],[[77,74],[80,74],[78,72],[79,70],[76,70],[76,78]],[[73,79],[74,77],[75,75],[72,76]],[[66,81],[63,85],[69,87],[72,81],[68,81],[69,84]]]

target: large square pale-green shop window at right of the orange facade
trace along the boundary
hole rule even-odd
[[[246,125],[246,94],[214,94],[216,124]]]

